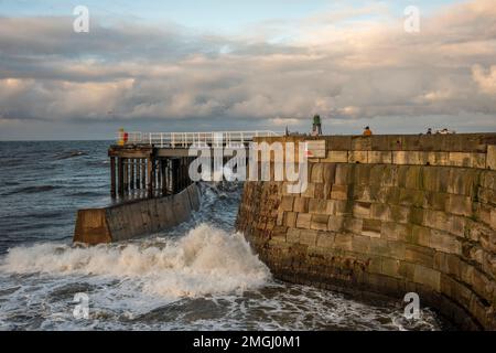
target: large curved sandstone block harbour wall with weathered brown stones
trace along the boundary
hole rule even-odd
[[[245,184],[237,228],[274,276],[414,291],[461,328],[496,329],[496,133],[324,139],[304,193]]]

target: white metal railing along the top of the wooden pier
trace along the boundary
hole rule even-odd
[[[118,132],[117,139],[122,140]],[[155,147],[187,148],[192,145],[206,143],[208,146],[224,146],[231,143],[247,143],[254,137],[277,137],[282,132],[273,131],[218,131],[218,132],[127,132],[125,145],[150,145]]]

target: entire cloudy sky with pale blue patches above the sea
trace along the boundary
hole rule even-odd
[[[0,0],[0,140],[308,132],[314,114],[325,133],[496,131],[495,0]]]

